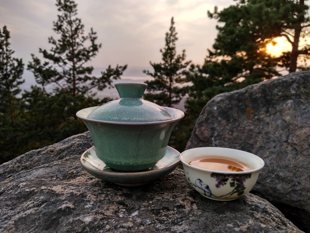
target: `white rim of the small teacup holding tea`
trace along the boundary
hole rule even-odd
[[[236,152],[242,152],[242,153],[246,153],[246,154],[249,154],[250,156],[254,156],[256,159],[260,160],[262,162],[261,166],[258,167],[258,168],[255,168],[255,169],[252,169],[252,170],[248,170],[248,171],[216,171],[216,170],[209,170],[209,169],[204,169],[204,168],[201,168],[201,167],[195,167],[193,165],[189,165],[188,162],[185,162],[184,159],[182,159],[182,156],[184,155],[184,152],[188,152],[190,150],[197,150],[197,149],[200,149],[201,150],[205,150],[205,149],[227,149],[227,150],[233,150],[233,151],[236,151]],[[198,155],[199,156],[199,155]],[[227,155],[221,155],[223,158],[228,158]],[[197,157],[197,156],[193,156],[193,157]],[[191,158],[193,158],[191,157]],[[191,149],[188,149],[188,150],[185,150],[183,151],[182,153],[180,153],[180,161],[182,162],[183,166],[187,166],[187,167],[191,167],[193,169],[197,169],[197,170],[200,170],[200,171],[208,171],[208,172],[213,172],[213,173],[222,173],[222,174],[248,174],[248,173],[253,173],[255,171],[259,171],[261,170],[264,166],[265,166],[265,162],[262,158],[260,158],[259,156],[255,155],[255,154],[252,154],[250,152],[246,152],[246,151],[243,151],[243,150],[237,150],[237,149],[232,149],[232,148],[226,148],[226,147],[196,147],[196,148],[191,148]]]

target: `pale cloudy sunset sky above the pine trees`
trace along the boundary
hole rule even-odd
[[[212,48],[217,35],[215,19],[207,17],[213,11],[235,4],[233,0],[75,0],[78,18],[85,25],[85,33],[92,27],[97,32],[99,53],[92,58],[94,74],[108,65],[128,65],[122,78],[145,78],[142,70],[152,71],[149,62],[161,62],[159,50],[165,46],[165,34],[174,17],[178,41],[177,52],[186,50],[188,60],[202,64],[207,49]],[[55,0],[0,0],[0,27],[10,31],[13,57],[25,64],[24,89],[35,84],[26,71],[31,54],[42,58],[39,48],[49,49],[48,37],[57,21]]]

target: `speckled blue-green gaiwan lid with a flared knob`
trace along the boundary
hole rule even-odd
[[[145,83],[116,83],[119,99],[104,103],[87,118],[114,122],[154,122],[173,119],[163,107],[142,99]]]

